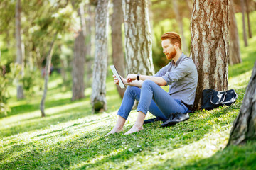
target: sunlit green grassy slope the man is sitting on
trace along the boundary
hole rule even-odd
[[[256,169],[256,142],[224,149],[256,60],[256,37],[249,43],[242,47],[243,62],[229,69],[228,89],[237,91],[236,103],[191,113],[189,120],[169,128],[147,124],[132,135],[123,134],[134,124],[134,111],[124,132],[104,137],[121,103],[111,77],[109,109],[92,115],[91,89],[85,99],[71,102],[71,92],[61,90],[62,81],[53,74],[46,118],[38,110],[41,91],[29,101],[11,98],[12,112],[0,118],[0,169]],[[10,90],[14,96],[15,89]]]

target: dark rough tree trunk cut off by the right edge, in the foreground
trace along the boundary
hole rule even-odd
[[[240,145],[256,138],[256,62],[245,91],[240,113],[230,132],[228,145]]]

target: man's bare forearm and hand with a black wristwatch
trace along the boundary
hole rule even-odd
[[[166,85],[166,81],[162,77],[154,77],[154,76],[146,76],[146,75],[139,76],[140,81],[144,81],[146,79],[154,81],[159,86]],[[126,81],[128,84],[132,84],[134,81],[137,81],[137,74],[128,74]]]

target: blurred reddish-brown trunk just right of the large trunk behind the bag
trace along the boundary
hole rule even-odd
[[[238,26],[235,19],[235,8],[233,0],[230,0],[230,50],[228,63],[230,65],[238,64],[242,62],[240,57],[240,44],[239,44],[239,36],[238,36]]]

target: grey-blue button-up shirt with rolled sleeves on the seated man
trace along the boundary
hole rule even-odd
[[[163,77],[166,86],[169,85],[169,94],[188,106],[193,106],[196,97],[198,73],[193,60],[183,53],[178,61],[169,62],[157,72],[155,77]]]

